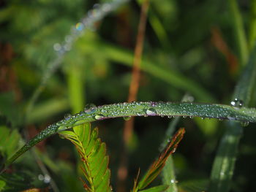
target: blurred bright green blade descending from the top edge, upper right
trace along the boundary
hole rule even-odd
[[[240,65],[243,66],[247,62],[248,58],[248,45],[246,41],[246,35],[244,32],[244,24],[241,16],[241,12],[238,9],[237,0],[229,0],[230,14],[233,18],[233,28],[236,34],[236,41],[238,44]]]

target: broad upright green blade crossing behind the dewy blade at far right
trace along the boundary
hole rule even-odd
[[[249,63],[241,74],[233,96],[233,99],[237,98],[243,101],[245,106],[249,104],[256,80],[255,52],[256,49],[251,54]],[[233,177],[238,144],[242,132],[243,128],[240,124],[233,121],[227,124],[227,130],[219,144],[217,155],[214,159],[214,165],[211,170],[210,192],[226,192],[230,190],[230,182]]]

